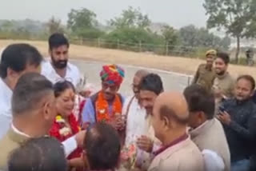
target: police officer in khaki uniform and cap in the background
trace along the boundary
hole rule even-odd
[[[198,66],[198,70],[192,82],[193,84],[202,85],[202,87],[210,91],[215,78],[213,64],[216,54],[216,50],[209,50],[206,52],[206,63]]]

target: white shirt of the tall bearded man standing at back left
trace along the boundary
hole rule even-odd
[[[50,60],[46,60],[42,62],[42,70],[41,74],[44,75],[47,79],[50,80],[53,84],[56,82],[60,82],[62,80],[66,80],[72,82],[74,87],[78,87],[80,82],[80,72],[77,66],[74,66],[70,62],[67,63],[66,66],[66,76],[62,78],[59,74],[56,73],[54,67],[51,65]]]

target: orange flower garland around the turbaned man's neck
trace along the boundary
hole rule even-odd
[[[109,113],[109,104],[105,100],[104,93],[100,91],[98,93],[97,101],[95,102],[95,108],[97,121],[110,121],[110,117],[122,113],[122,102],[118,95],[115,95],[112,113]]]

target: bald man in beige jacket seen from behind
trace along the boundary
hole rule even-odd
[[[202,154],[186,133],[189,119],[182,93],[161,93],[154,102],[152,125],[162,141],[149,171],[202,171]]]

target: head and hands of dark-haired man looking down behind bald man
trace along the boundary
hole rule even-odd
[[[149,125],[152,125],[151,116],[153,112],[154,101],[156,97],[158,97],[158,95],[162,92],[162,79],[158,76],[158,74],[148,74],[145,78],[142,78],[142,82],[139,85],[139,97],[142,107],[146,109],[147,116],[150,116],[148,119]],[[152,131],[150,134],[154,135],[153,127]],[[155,142],[157,142],[157,140],[152,138],[152,136],[148,137],[147,135],[142,134],[142,136],[138,137],[137,139],[137,146],[138,149],[142,149],[147,153],[152,153]]]

